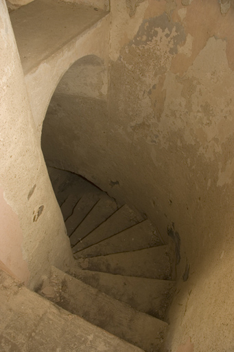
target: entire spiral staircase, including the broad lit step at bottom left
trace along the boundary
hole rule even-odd
[[[86,179],[49,168],[74,265],[32,292],[0,272],[0,350],[156,352],[174,294],[174,253],[148,219]]]

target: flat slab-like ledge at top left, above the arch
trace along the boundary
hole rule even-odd
[[[34,0],[10,14],[25,75],[108,14],[106,1],[81,3]]]

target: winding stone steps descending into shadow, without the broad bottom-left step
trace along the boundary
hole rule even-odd
[[[56,168],[49,175],[77,266],[51,267],[38,293],[130,343],[116,351],[159,351],[174,293],[168,245],[148,219],[82,177]]]

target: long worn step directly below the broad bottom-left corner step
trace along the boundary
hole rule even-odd
[[[167,323],[141,313],[56,268],[42,294],[60,307],[147,352],[159,351]],[[54,295],[52,292],[54,291]]]

